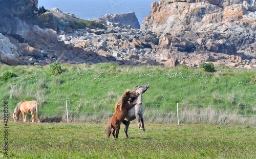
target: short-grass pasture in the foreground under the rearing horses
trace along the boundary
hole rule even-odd
[[[10,121],[8,127],[9,158],[256,158],[256,127],[250,125],[146,123],[142,131],[132,122],[130,138],[121,125],[116,140],[105,138],[106,124]],[[0,152],[6,158],[3,146]]]

